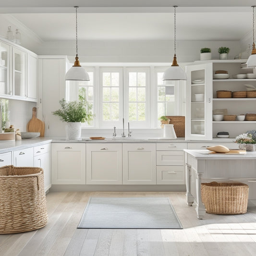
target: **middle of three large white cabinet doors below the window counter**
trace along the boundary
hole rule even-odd
[[[122,144],[86,144],[86,184],[122,184]]]

